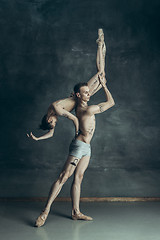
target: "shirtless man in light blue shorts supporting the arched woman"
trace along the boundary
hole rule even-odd
[[[102,48],[102,44],[100,44],[100,47]],[[64,168],[57,181],[51,187],[45,209],[36,220],[35,226],[37,227],[44,225],[49,214],[51,204],[61,191],[63,184],[74,172],[74,180],[71,188],[72,219],[88,221],[92,220],[91,217],[80,212],[79,202],[81,182],[90,160],[90,141],[95,131],[95,114],[102,113],[114,106],[114,100],[105,84],[106,79],[103,73],[98,76],[99,82],[105,93],[105,102],[102,102],[98,105],[88,106],[88,101],[91,95],[88,84],[79,83],[74,87],[74,92],[77,98],[76,116],[79,120],[80,133],[70,145],[69,155]]]

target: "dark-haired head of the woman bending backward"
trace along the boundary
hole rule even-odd
[[[40,129],[42,130],[50,130],[55,128],[57,123],[57,116],[53,115],[48,117],[47,114],[45,114],[42,118],[41,124],[39,126]]]

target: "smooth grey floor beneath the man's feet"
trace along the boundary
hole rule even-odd
[[[3,240],[160,240],[160,202],[81,203],[93,222],[73,221],[70,202],[55,202],[46,224],[33,227],[44,202],[0,202]]]

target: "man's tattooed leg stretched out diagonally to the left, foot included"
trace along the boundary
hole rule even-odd
[[[55,198],[61,191],[64,183],[73,174],[73,172],[76,168],[76,166],[73,164],[73,162],[76,162],[76,164],[78,164],[79,159],[74,156],[68,156],[67,161],[63,167],[63,170],[62,170],[61,174],[59,175],[59,178],[51,187],[49,197],[48,197],[47,203],[45,205],[45,209],[42,211],[42,213],[36,220],[36,223],[35,223],[36,227],[41,227],[44,225],[44,223],[48,217],[48,214],[49,214],[49,211],[50,211],[53,201],[55,200]]]

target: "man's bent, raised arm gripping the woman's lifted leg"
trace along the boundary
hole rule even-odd
[[[105,92],[105,96],[106,96],[106,102],[102,102],[99,103],[98,105],[92,105],[88,108],[88,113],[89,114],[98,114],[98,113],[102,113],[104,111],[106,111],[107,109],[113,107],[115,105],[114,99],[110,93],[110,91],[108,90],[106,84],[105,84],[105,80],[103,78],[103,76],[99,75],[99,81],[102,85],[102,88]]]

